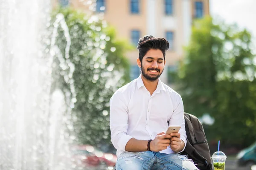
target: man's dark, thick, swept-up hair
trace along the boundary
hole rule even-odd
[[[145,35],[143,38],[140,38],[137,49],[139,50],[140,62],[142,62],[143,57],[150,49],[161,50],[163,53],[163,59],[165,59],[166,51],[169,49],[169,42],[164,38]]]

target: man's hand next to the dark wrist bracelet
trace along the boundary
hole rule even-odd
[[[165,150],[171,143],[171,137],[171,135],[165,134],[164,132],[158,133],[155,139],[150,142],[150,150],[154,152]]]

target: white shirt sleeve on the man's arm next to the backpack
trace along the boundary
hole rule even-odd
[[[186,130],[185,130],[185,119],[184,119],[184,108],[183,108],[183,101],[182,98],[179,96],[177,99],[177,102],[173,104],[173,113],[171,116],[171,119],[169,120],[169,125],[180,125],[180,139],[183,140],[185,146],[183,150],[186,147]],[[182,152],[181,150],[180,152]],[[179,153],[180,153],[179,152]]]

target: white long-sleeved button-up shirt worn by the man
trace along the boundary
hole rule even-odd
[[[186,146],[183,102],[179,94],[158,79],[157,89],[150,96],[141,76],[119,88],[110,99],[111,142],[117,156],[125,152],[131,138],[154,139],[166,132],[169,125],[180,125],[180,139]],[[182,150],[183,151],[183,150]],[[160,153],[175,153],[168,146]]]

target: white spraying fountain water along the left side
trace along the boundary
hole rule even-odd
[[[76,92],[68,60],[71,42],[61,14],[52,37],[46,37],[50,3],[0,0],[0,170],[72,168],[69,144],[75,137],[68,131]],[[58,27],[67,40],[64,56],[55,45]],[[44,39],[50,40],[49,51]],[[71,94],[52,91],[53,57],[61,63]]]

